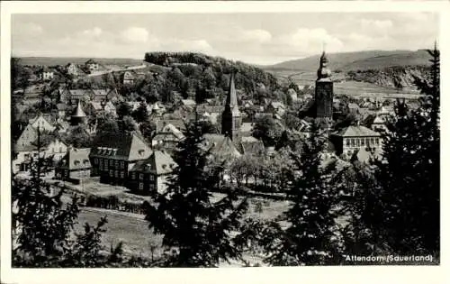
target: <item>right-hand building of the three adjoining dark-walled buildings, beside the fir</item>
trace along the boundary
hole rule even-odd
[[[140,194],[163,193],[166,182],[177,167],[166,151],[154,151],[146,160],[139,160],[130,169],[129,188]]]

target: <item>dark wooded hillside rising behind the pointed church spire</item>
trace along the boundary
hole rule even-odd
[[[286,99],[274,75],[240,61],[193,52],[148,52],[144,69],[132,72],[132,83],[123,84],[123,70],[81,78],[74,87],[115,87],[130,100],[139,96],[148,102],[173,103],[179,98],[198,102],[216,99],[223,102],[229,89],[229,74],[236,72],[239,99]]]

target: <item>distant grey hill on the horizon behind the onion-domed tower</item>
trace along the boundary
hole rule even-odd
[[[284,61],[264,69],[292,69],[315,72],[319,67],[320,54],[302,60]],[[383,69],[392,66],[428,65],[426,50],[370,50],[329,54],[329,68],[332,70]]]

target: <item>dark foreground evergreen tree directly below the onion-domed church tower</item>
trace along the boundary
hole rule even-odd
[[[284,212],[284,227],[271,223],[263,230],[260,243],[271,265],[324,265],[336,261],[338,240],[333,209],[338,204],[338,192],[330,176],[334,163],[322,166],[320,151],[325,139],[316,124],[311,126],[311,137],[305,142],[302,156],[293,155],[294,169],[285,174],[287,198],[293,205]]]

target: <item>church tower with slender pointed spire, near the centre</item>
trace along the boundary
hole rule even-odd
[[[233,142],[237,142],[240,138],[240,125],[242,124],[242,115],[240,115],[238,107],[238,97],[236,96],[236,88],[234,86],[234,72],[229,78],[229,92],[225,109],[222,113],[222,129],[223,135],[229,136]]]

